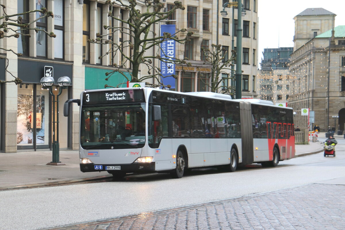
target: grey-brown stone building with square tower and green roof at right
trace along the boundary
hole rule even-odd
[[[310,9],[306,10],[311,11]],[[319,10],[322,12],[321,10]],[[319,12],[319,13],[320,13]],[[295,18],[296,25],[314,22],[306,27],[310,31],[324,31],[300,46],[295,40],[294,52],[290,62],[290,89],[288,106],[296,112],[295,126],[313,128],[317,124],[321,131],[327,131],[328,126],[336,130],[344,130],[345,124],[345,26],[334,25],[335,14],[325,11],[324,16],[318,17],[307,14]],[[302,20],[304,23],[299,22]],[[324,21],[328,23],[323,24]],[[332,22],[333,20],[333,22]],[[324,28],[328,25],[328,28]],[[300,31],[302,28],[296,31]],[[295,37],[298,34],[295,34]],[[302,116],[301,109],[309,108],[314,111],[315,118]],[[339,118],[336,118],[338,116]],[[335,117],[335,118],[334,118]]]

